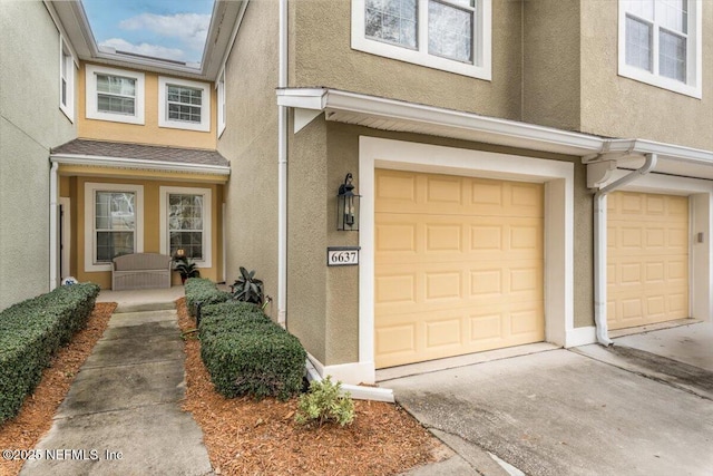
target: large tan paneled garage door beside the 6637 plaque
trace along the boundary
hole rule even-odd
[[[545,338],[543,185],[375,173],[377,368]]]

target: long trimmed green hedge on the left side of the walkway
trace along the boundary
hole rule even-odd
[[[86,327],[99,286],[57,288],[0,312],[0,424],[14,417],[55,352]]]

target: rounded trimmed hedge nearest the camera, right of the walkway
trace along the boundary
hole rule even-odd
[[[206,305],[201,313],[201,357],[219,394],[286,400],[300,392],[306,352],[296,337],[245,302]]]

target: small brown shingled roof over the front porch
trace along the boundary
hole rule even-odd
[[[55,147],[51,155],[128,158],[156,162],[157,165],[165,162],[229,167],[229,163],[216,150],[88,139],[75,139]]]

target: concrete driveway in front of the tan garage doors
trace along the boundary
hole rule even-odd
[[[456,451],[409,474],[713,475],[713,327],[687,328],[382,381]]]

